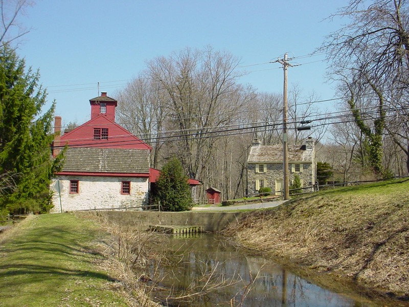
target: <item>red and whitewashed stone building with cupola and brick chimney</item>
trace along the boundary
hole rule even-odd
[[[50,187],[52,212],[134,207],[148,200],[152,148],[115,122],[117,101],[106,92],[89,103],[91,119],[61,136],[61,117],[55,118],[53,156],[67,150]]]

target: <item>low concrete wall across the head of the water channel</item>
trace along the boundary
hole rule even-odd
[[[203,226],[205,231],[220,231],[235,223],[246,212],[141,212],[98,211],[98,215],[120,226],[147,229],[149,225]]]

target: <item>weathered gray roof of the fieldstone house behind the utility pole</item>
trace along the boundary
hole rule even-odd
[[[312,162],[314,150],[305,150],[305,145],[288,145],[289,162]],[[283,162],[283,145],[252,146],[247,159],[248,163]]]

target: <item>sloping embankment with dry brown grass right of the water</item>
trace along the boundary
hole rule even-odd
[[[409,180],[322,191],[225,232],[285,262],[409,299]]]

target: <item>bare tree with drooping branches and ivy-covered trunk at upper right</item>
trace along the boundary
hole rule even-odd
[[[362,133],[371,140],[373,153],[378,155],[372,157],[376,161],[374,169],[379,173],[381,156],[375,147],[382,142],[384,128],[409,153],[409,139],[397,132],[404,131],[409,108],[409,4],[407,0],[351,0],[331,17],[335,16],[348,17],[350,22],[329,35],[321,51],[327,52],[331,77],[344,82],[340,90],[350,96],[352,114]],[[378,107],[372,127],[362,125],[362,114],[354,111],[354,101],[364,95],[373,97],[372,105]],[[393,129],[384,123],[390,112],[399,115]],[[409,171],[409,155],[406,157]]]

